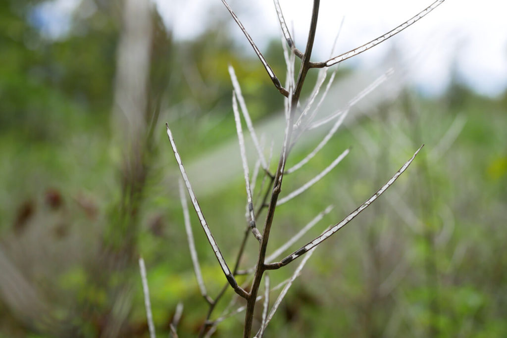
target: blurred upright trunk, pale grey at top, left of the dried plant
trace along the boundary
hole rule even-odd
[[[128,320],[131,309],[132,263],[139,229],[139,206],[150,168],[149,80],[153,34],[153,4],[149,0],[125,0],[123,29],[117,50],[113,146],[121,151],[121,196],[105,230],[106,268],[110,276],[120,274],[123,283],[110,293],[110,313],[104,337],[115,337]],[[151,327],[152,328],[152,327]]]

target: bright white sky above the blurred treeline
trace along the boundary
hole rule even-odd
[[[230,18],[234,36],[246,43],[220,0],[154,1],[176,39],[192,39],[220,16]],[[304,49],[312,3],[280,0],[287,25],[289,28],[294,25],[296,46],[300,49]],[[336,54],[373,40],[431,3],[432,0],[321,0],[312,60],[321,61],[329,56],[343,16]],[[272,0],[230,0],[229,4],[261,50],[268,39],[280,36]],[[344,62],[375,67],[395,46],[410,65],[414,85],[424,93],[441,93],[449,83],[455,62],[458,76],[468,86],[481,94],[495,96],[507,88],[506,13],[504,0],[482,0],[480,4],[472,0],[447,0],[388,42]]]

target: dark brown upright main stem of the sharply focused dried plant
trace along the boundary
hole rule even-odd
[[[257,259],[257,267],[255,272],[255,277],[253,278],[253,283],[251,286],[251,290],[247,296],[247,304],[246,304],[246,314],[245,314],[245,324],[243,329],[243,338],[249,338],[251,334],[251,327],[253,322],[253,310],[255,309],[257,293],[259,291],[259,286],[261,285],[262,276],[264,274],[265,264],[264,260],[266,258],[266,249],[268,247],[269,241],[269,233],[271,231],[271,224],[273,223],[273,218],[275,214],[276,202],[278,201],[278,195],[281,192],[281,184],[283,179],[283,170],[285,168],[285,161],[287,159],[289,153],[289,144],[291,143],[291,136],[293,131],[293,121],[294,114],[296,111],[297,103],[301,96],[301,90],[303,88],[303,84],[305,82],[306,73],[308,69],[310,69],[310,57],[313,49],[313,41],[315,39],[315,31],[317,28],[317,19],[318,19],[318,9],[320,5],[320,0],[313,1],[313,9],[312,9],[312,18],[310,22],[310,29],[308,32],[308,40],[306,43],[305,54],[303,55],[301,68],[298,74],[298,80],[296,82],[296,88],[294,90],[292,101],[291,101],[291,111],[289,113],[288,120],[288,128],[286,129],[285,138],[283,141],[282,151],[280,153],[280,159],[278,161],[278,168],[276,169],[274,184],[273,184],[273,192],[271,194],[271,201],[268,207],[268,214],[266,216],[266,222],[264,225],[264,233],[262,235],[261,246],[259,248],[259,257]]]

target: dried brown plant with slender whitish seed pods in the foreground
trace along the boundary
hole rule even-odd
[[[261,141],[259,141],[259,137],[256,134],[255,129],[253,128],[250,116],[248,114],[248,110],[246,107],[245,100],[241,93],[241,88],[239,85],[239,81],[236,78],[234,69],[232,66],[229,66],[229,72],[232,80],[233,85],[233,92],[232,92],[232,107],[234,111],[234,120],[236,122],[236,131],[238,136],[238,143],[240,147],[240,155],[241,155],[241,161],[243,166],[243,173],[244,173],[244,179],[245,179],[245,189],[246,189],[246,227],[244,231],[243,240],[239,247],[239,252],[236,256],[236,260],[234,262],[233,268],[231,269],[228,265],[226,259],[224,258],[222,252],[220,251],[220,248],[216,241],[213,238],[213,235],[211,233],[211,230],[208,226],[208,223],[204,217],[204,214],[199,206],[199,202],[197,200],[197,197],[194,193],[194,190],[192,189],[191,181],[187,175],[187,172],[185,170],[182,158],[180,157],[180,154],[178,152],[178,149],[176,147],[176,142],[172,136],[171,130],[169,128],[169,125],[166,124],[167,127],[167,135],[169,137],[169,141],[172,147],[172,151],[174,152],[174,157],[176,159],[176,162],[179,167],[179,171],[182,175],[183,181],[180,181],[179,184],[179,191],[180,191],[180,197],[182,201],[182,207],[184,212],[184,218],[185,218],[185,229],[187,231],[187,237],[189,242],[189,248],[191,252],[192,257],[192,263],[194,266],[194,271],[197,279],[197,283],[199,285],[200,292],[205,299],[205,301],[209,305],[208,313],[206,316],[206,321],[204,325],[201,327],[201,330],[199,332],[199,336],[210,336],[213,334],[216,330],[216,327],[221,323],[223,320],[239,313],[242,311],[246,311],[245,313],[245,320],[244,320],[244,328],[243,328],[243,336],[244,337],[250,337],[251,336],[251,330],[252,330],[252,322],[253,322],[253,314],[254,310],[256,308],[257,303],[264,298],[263,302],[263,311],[262,311],[262,320],[260,329],[257,332],[257,337],[262,337],[263,334],[266,332],[266,327],[273,318],[276,310],[278,309],[278,306],[280,305],[280,302],[282,301],[283,297],[287,293],[289,287],[291,287],[294,280],[300,275],[301,270],[303,269],[304,265],[306,264],[307,260],[310,258],[313,251],[316,249],[316,247],[322,243],[325,239],[328,239],[331,237],[331,235],[338,232],[338,230],[342,229],[347,223],[349,223],[355,216],[357,216],[361,211],[365,210],[368,206],[371,205],[381,194],[383,194],[389,186],[391,186],[392,183],[409,167],[409,165],[412,163],[418,152],[420,151],[421,147],[417,149],[417,151],[414,153],[414,155],[398,170],[396,173],[388,179],[388,181],[380,187],[380,189],[373,194],[370,198],[368,198],[363,204],[361,204],[358,208],[353,210],[351,213],[349,213],[346,217],[344,217],[341,221],[337,222],[336,224],[330,226],[327,230],[325,230],[320,236],[317,238],[309,241],[306,245],[303,247],[294,250],[291,254],[287,255],[285,258],[274,261],[282,252],[284,252],[286,249],[288,249],[293,243],[295,243],[299,238],[304,236],[304,234],[312,228],[322,217],[329,213],[332,209],[332,206],[329,206],[324,211],[319,213],[317,216],[315,216],[314,219],[312,219],[307,226],[305,226],[300,232],[295,234],[291,239],[288,239],[287,242],[282,245],[279,249],[275,250],[271,255],[267,256],[267,245],[270,237],[270,231],[273,226],[273,220],[274,215],[276,211],[276,207],[280,204],[287,203],[296,196],[300,195],[309,187],[311,187],[315,182],[320,180],[322,177],[324,177],[326,174],[328,174],[340,161],[342,161],[345,156],[350,152],[350,148],[345,149],[327,168],[322,170],[318,175],[310,179],[307,183],[302,185],[299,189],[295,190],[292,193],[287,194],[284,197],[280,197],[281,187],[282,187],[282,181],[285,177],[285,174],[291,174],[295,170],[301,168],[304,164],[308,163],[315,154],[322,148],[324,145],[331,139],[331,137],[336,133],[338,128],[343,123],[344,119],[346,118],[348,111],[350,108],[358,102],[361,98],[365,97],[373,91],[377,86],[382,84],[392,73],[392,70],[388,70],[382,77],[375,80],[370,86],[365,88],[363,91],[358,93],[354,98],[352,98],[348,104],[345,107],[342,107],[341,109],[333,112],[328,117],[325,117],[319,121],[314,121],[316,116],[316,111],[319,109],[320,104],[322,103],[325,95],[328,93],[329,88],[331,87],[331,84],[333,83],[333,80],[335,78],[335,72],[332,73],[332,76],[330,80],[328,81],[328,85],[324,89],[320,100],[318,103],[314,106],[314,102],[316,97],[319,94],[320,88],[323,86],[325,82],[325,78],[327,77],[327,68],[330,66],[333,66],[335,64],[339,64],[340,62],[351,58],[355,55],[358,55],[360,53],[363,53],[367,51],[368,49],[380,44],[381,42],[389,39],[393,35],[401,32],[408,26],[412,25],[419,19],[421,19],[423,16],[431,12],[433,9],[438,7],[440,4],[444,2],[444,0],[438,0],[431,4],[429,7],[412,17],[411,19],[407,20],[403,24],[397,26],[396,28],[392,29],[391,31],[377,37],[377,39],[374,39],[366,44],[363,44],[355,49],[352,49],[346,53],[340,54],[338,56],[332,56],[330,59],[322,62],[312,62],[310,60],[312,49],[313,49],[313,41],[315,37],[315,30],[317,25],[317,19],[318,19],[318,13],[319,13],[319,0],[313,1],[313,9],[311,14],[311,23],[310,28],[308,32],[308,39],[306,43],[306,47],[304,51],[299,50],[296,48],[294,40],[291,36],[291,33],[289,32],[287,25],[285,23],[285,19],[283,17],[282,9],[280,7],[280,4],[278,0],[274,0],[274,5],[276,9],[276,13],[278,15],[278,19],[281,26],[281,31],[286,43],[283,44],[284,47],[284,58],[287,65],[287,74],[286,74],[286,81],[285,81],[285,87],[282,86],[280,80],[276,77],[273,69],[267,62],[267,60],[262,55],[261,51],[253,40],[251,39],[250,35],[246,31],[246,29],[241,24],[239,18],[234,14],[233,10],[229,6],[229,4],[222,0],[223,4],[227,8],[227,10],[232,15],[233,19],[236,21],[244,35],[246,36],[246,39],[250,43],[251,47],[259,57],[260,61],[262,62],[264,68],[266,69],[266,72],[268,73],[268,76],[270,77],[271,81],[273,82],[275,88],[285,97],[284,103],[285,103],[285,130],[284,130],[284,137],[283,137],[283,144],[281,147],[281,152],[278,159],[278,165],[276,167],[276,170],[274,172],[270,171],[270,162],[271,162],[271,156],[268,160],[266,160],[264,156],[264,149],[261,145]],[[286,48],[288,46],[288,49]],[[334,49],[334,47],[333,47]],[[294,72],[294,64],[295,64],[295,57],[298,57],[301,59],[301,66],[298,72],[298,75],[295,79],[295,72]],[[303,85],[305,84],[305,79],[307,72],[311,68],[322,68],[319,71],[317,83],[312,91],[312,94],[310,95],[310,98],[306,104],[303,104],[301,102],[301,91],[303,88]],[[238,107],[239,102],[239,107]],[[241,110],[241,114],[240,114]],[[248,132],[251,136],[253,145],[256,148],[257,152],[257,162],[255,165],[255,169],[253,170],[253,176],[250,180],[250,172],[248,168],[248,162],[246,158],[246,151],[245,151],[245,141],[243,137],[243,130],[242,130],[242,124],[241,124],[241,116],[243,117],[243,120],[247,126]],[[329,133],[323,138],[323,140],[315,147],[315,149],[308,154],[302,161],[297,163],[291,168],[285,169],[287,158],[291,152],[291,149],[293,148],[294,144],[304,135],[304,133],[310,129],[314,129],[317,127],[320,127],[324,124],[330,123],[334,121],[333,127],[330,129]],[[260,170],[262,168],[262,171]],[[255,187],[255,181],[257,181],[259,172],[263,172],[263,179],[261,184],[261,189],[258,191],[258,195],[254,196],[252,190],[253,187]],[[190,227],[190,217],[189,217],[189,211],[187,206],[187,199],[185,197],[185,190],[190,195],[190,201],[192,203],[192,206],[195,209],[195,212],[197,213],[197,216],[199,218],[199,221],[201,223],[201,227],[206,234],[206,237],[208,239],[208,242],[211,246],[211,249],[213,250],[216,259],[218,260],[220,267],[222,268],[222,271],[225,275],[225,278],[227,280],[227,283],[225,283],[224,287],[222,288],[221,292],[219,292],[218,296],[215,298],[210,297],[207,294],[206,287],[204,285],[204,281],[202,278],[201,270],[199,267],[199,261],[197,258],[197,252],[195,249],[194,244],[194,238],[192,234],[192,230]],[[262,212],[266,211],[267,215],[264,219],[264,224],[262,228],[258,228],[258,221],[260,219],[260,216]],[[261,232],[262,231],[262,232]],[[252,233],[253,237],[255,237],[256,240],[259,241],[259,253],[257,258],[257,263],[255,267],[245,269],[245,270],[239,270],[239,265],[241,258],[243,257],[243,253],[245,250],[245,244],[248,240],[248,238],[251,236],[250,233]],[[291,278],[288,280],[282,282],[281,284],[273,287],[270,289],[270,280],[268,277],[268,270],[276,270],[283,266],[286,266],[290,264],[292,261],[296,260],[300,256],[303,256],[303,259],[300,261],[299,266],[297,267],[296,271],[292,275]],[[274,262],[273,262],[274,261]],[[140,260],[140,267],[141,267],[141,275],[143,280],[143,289],[146,296],[146,305],[147,305],[147,313],[148,313],[148,319],[149,322],[151,320],[151,311],[149,310],[149,299],[148,299],[148,284],[146,281],[146,272],[144,272],[144,265],[142,262],[142,259]],[[236,281],[237,275],[250,275],[252,276],[249,280],[250,284],[248,285],[239,285]],[[261,281],[264,277],[264,294],[258,295],[259,290],[261,288]],[[237,302],[238,296],[233,297],[231,303],[227,308],[224,310],[224,312],[216,319],[212,320],[211,316],[213,314],[213,310],[216,307],[216,304],[220,302],[222,299],[225,291],[231,287],[239,297],[244,298],[246,300],[246,306],[241,306],[234,309],[234,306]],[[281,293],[276,298],[273,306],[269,310],[269,296],[271,292],[276,291],[277,289],[283,287]],[[181,315],[182,307],[178,306],[179,316]],[[173,336],[177,336],[176,329],[177,329],[177,322],[178,320],[173,321],[171,324],[171,334]],[[154,331],[152,332],[153,323],[150,324],[150,333],[155,334]]]

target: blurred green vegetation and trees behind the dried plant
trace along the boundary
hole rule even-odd
[[[178,333],[194,336],[207,305],[192,270],[164,123],[193,168],[200,205],[232,262],[245,226],[245,194],[227,64],[236,69],[255,125],[281,116],[282,97],[251,50],[224,28],[226,15],[197,39],[175,41],[152,11],[146,78],[134,79],[146,92],[134,128],[125,120],[137,103],[120,102],[121,91],[131,89],[118,80],[121,42],[135,39],[124,3],[83,1],[58,36],[41,29],[40,6],[0,3],[0,336],[149,336],[140,255],[157,333],[169,333],[183,302]],[[283,74],[279,41],[265,56]],[[354,72],[342,66],[336,82]],[[316,71],[306,95],[315,79]],[[334,99],[327,102],[333,106]],[[439,98],[401,88],[374,106],[358,106],[356,118],[309,165],[285,178],[282,195],[352,146],[336,169],[279,207],[268,250],[333,204],[293,249],[313,239],[425,147],[385,195],[316,250],[267,336],[507,336],[506,108],[507,93],[482,97],[458,77]],[[289,165],[319,137],[298,144]],[[274,148],[277,159],[279,144]],[[227,170],[236,174],[224,177]],[[191,218],[214,296],[225,278]],[[253,242],[242,268],[257,258]],[[273,271],[272,285],[296,265]],[[212,319],[232,297],[228,290]],[[215,335],[240,335],[242,321],[243,313],[224,321]]]

